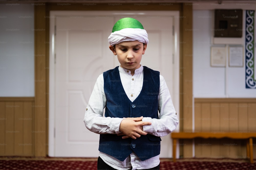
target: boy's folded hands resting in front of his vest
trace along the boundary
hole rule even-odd
[[[129,138],[129,137],[136,139],[141,137],[141,135],[146,135],[147,132],[143,131],[143,126],[151,125],[152,123],[142,122],[142,118],[143,116],[124,118],[119,127],[119,130],[122,133],[118,134],[118,136],[125,135],[122,137],[123,139]]]

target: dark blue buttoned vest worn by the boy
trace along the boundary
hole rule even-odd
[[[143,66],[143,86],[131,102],[126,96],[118,67],[103,73],[106,95],[105,117],[158,117],[159,72]],[[135,80],[136,81],[136,80]],[[134,152],[142,161],[160,154],[161,138],[141,135],[137,139],[122,139],[116,134],[101,134],[99,151],[124,161]]]

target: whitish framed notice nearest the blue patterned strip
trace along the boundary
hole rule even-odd
[[[230,67],[243,67],[243,46],[229,46],[228,54]]]

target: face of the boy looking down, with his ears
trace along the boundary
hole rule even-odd
[[[147,44],[138,41],[124,41],[116,44],[115,47],[109,46],[114,55],[117,56],[122,68],[134,71],[140,68],[142,55],[145,53]]]

